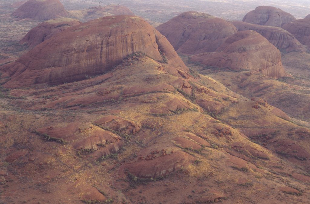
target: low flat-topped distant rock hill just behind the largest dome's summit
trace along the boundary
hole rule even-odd
[[[102,18],[104,16],[135,15],[129,8],[122,5],[91,7],[88,9],[68,11],[68,13],[71,18],[75,18],[83,22]]]

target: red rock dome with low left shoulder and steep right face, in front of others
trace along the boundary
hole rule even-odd
[[[192,60],[208,66],[258,71],[272,78],[286,75],[280,51],[253,30],[240,31],[229,37],[216,52],[194,55]]]

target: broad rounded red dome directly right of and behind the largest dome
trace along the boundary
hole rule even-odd
[[[205,13],[188,11],[156,28],[179,53],[215,51],[228,36],[237,33],[231,23]]]

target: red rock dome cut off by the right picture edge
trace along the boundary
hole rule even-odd
[[[310,18],[294,20],[282,28],[292,33],[303,45],[310,47]]]

